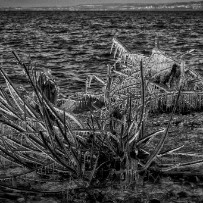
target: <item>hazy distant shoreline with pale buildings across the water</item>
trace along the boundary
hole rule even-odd
[[[162,4],[105,3],[80,4],[75,6],[12,7],[1,6],[0,11],[203,11],[203,1]]]

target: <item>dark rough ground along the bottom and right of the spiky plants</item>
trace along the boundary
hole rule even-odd
[[[147,124],[149,132],[166,127],[169,115],[153,115]],[[149,144],[152,150],[158,141]],[[176,154],[162,157],[161,163],[185,163],[203,159],[203,113],[190,113],[188,115],[175,115],[169,130],[169,136],[163,150],[170,150],[183,146]],[[187,155],[185,155],[187,153]],[[173,169],[164,173],[149,173],[138,181],[131,189],[126,185],[120,187],[93,188],[86,191],[69,192],[61,195],[27,193],[14,191],[0,186],[1,203],[60,203],[60,202],[128,202],[128,203],[156,203],[156,202],[203,202],[203,164],[182,169]],[[1,169],[1,175],[11,175],[20,171],[19,167]],[[5,180],[6,181],[6,180]],[[67,182],[35,182],[29,180],[23,183],[33,186],[41,191],[59,191],[74,187]]]

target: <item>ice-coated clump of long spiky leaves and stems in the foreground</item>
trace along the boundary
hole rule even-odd
[[[151,168],[162,171],[181,166],[156,162],[158,156],[179,149],[161,152],[181,95],[181,83],[167,127],[147,134],[145,122],[151,94],[142,60],[130,76],[109,66],[106,81],[99,79],[104,86],[100,99],[86,92],[86,99],[74,103],[80,109],[85,106],[85,112],[81,112],[57,107],[58,90],[50,76],[28,68],[13,54],[34,95],[22,96],[0,69],[9,90],[0,89],[0,123],[5,129],[1,130],[1,161],[22,167],[20,173],[2,176],[1,180],[11,179],[13,187],[19,189],[23,188],[20,180],[32,174],[30,181],[64,183],[48,192],[67,193],[109,184],[127,188],[138,184]],[[113,73],[120,76],[115,78]],[[154,150],[147,151],[147,145],[157,136]],[[27,189],[39,192],[34,186]]]

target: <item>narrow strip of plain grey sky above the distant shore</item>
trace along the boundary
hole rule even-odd
[[[0,7],[74,6],[79,4],[100,3],[172,3],[190,1],[198,0],[0,0]]]

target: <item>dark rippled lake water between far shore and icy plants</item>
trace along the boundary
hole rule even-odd
[[[136,36],[141,31],[149,34]],[[0,12],[0,60],[16,84],[26,85],[12,51],[25,62],[30,55],[69,94],[84,90],[87,75],[105,76],[115,34],[129,50],[149,54],[154,32],[169,55],[195,49],[187,63],[202,63],[203,12]],[[203,70],[201,63],[195,66]]]

